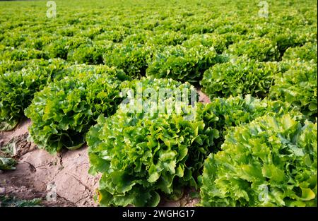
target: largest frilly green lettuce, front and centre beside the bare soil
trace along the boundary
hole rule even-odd
[[[143,92],[147,87],[157,91],[160,86],[194,89],[171,79],[143,78],[134,83],[147,83]],[[142,99],[150,104],[149,98]],[[158,105],[177,102],[175,95],[158,100]],[[155,206],[160,195],[179,198],[184,186],[197,186],[209,147],[218,137],[218,131],[204,124],[201,103],[190,105],[191,113],[184,112],[185,103],[181,112],[166,107],[164,112],[131,111],[132,105],[121,105],[109,118],[100,116],[86,136],[90,173],[102,173],[100,205]],[[212,115],[209,119],[217,120]]]

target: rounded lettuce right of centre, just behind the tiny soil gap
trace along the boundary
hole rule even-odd
[[[201,85],[211,98],[247,94],[266,97],[278,70],[276,62],[237,58],[209,68],[204,72]]]

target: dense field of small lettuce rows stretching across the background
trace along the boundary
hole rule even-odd
[[[284,3],[272,4],[273,16],[266,19],[245,1],[226,10],[200,4],[165,10],[122,6],[124,12],[112,4],[94,12],[73,8],[76,17],[63,11],[54,20],[39,18],[37,22],[25,14],[10,22],[12,14],[4,11],[0,61],[64,59],[69,64],[115,66],[132,78],[147,75],[191,83],[199,83],[204,71],[228,61],[229,56],[260,62],[314,59],[317,63],[317,22],[313,19],[317,12],[307,4],[298,3],[301,12],[295,6],[287,11],[282,10]]]

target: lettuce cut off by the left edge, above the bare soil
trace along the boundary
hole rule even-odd
[[[61,77],[65,65],[63,60],[52,59],[0,74],[0,131],[9,131],[18,124],[35,92]]]

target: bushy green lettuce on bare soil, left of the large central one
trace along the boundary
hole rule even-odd
[[[102,73],[100,73],[102,72]],[[50,83],[37,92],[25,115],[33,124],[30,138],[40,148],[56,153],[65,147],[80,148],[85,133],[100,114],[114,114],[119,96],[122,71],[99,66]]]

